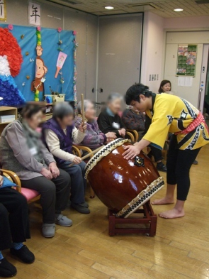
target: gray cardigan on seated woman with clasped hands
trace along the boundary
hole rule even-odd
[[[40,171],[55,162],[55,159],[40,138],[37,138],[36,146],[39,156],[34,154],[35,146],[28,146],[23,124],[18,120],[13,121],[1,133],[0,162],[2,168],[12,170],[21,180],[42,176]]]

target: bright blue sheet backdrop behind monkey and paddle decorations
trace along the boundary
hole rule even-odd
[[[6,24],[0,24],[2,28],[6,28]],[[18,41],[23,55],[23,63],[21,65],[21,72],[14,78],[18,89],[22,92],[26,101],[34,100],[34,92],[31,91],[31,82],[35,77],[35,58],[36,58],[36,28],[33,26],[13,26],[11,33]],[[59,45],[59,40],[62,44]],[[73,31],[64,31],[60,33],[57,29],[41,28],[41,41],[43,47],[42,58],[47,67],[46,80],[44,82],[45,94],[50,93],[50,87],[53,91],[65,95],[66,101],[73,101],[75,89],[75,35]],[[62,77],[64,83],[61,82],[61,75],[55,78],[57,70],[57,58],[59,55],[59,48],[62,52],[67,54],[67,59],[62,67]],[[43,100],[43,92],[40,92],[40,101]]]

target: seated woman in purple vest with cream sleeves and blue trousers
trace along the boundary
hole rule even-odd
[[[80,213],[89,214],[89,204],[85,202],[86,164],[72,154],[72,143],[80,143],[85,134],[86,125],[78,129],[74,126],[74,110],[67,102],[60,102],[53,109],[53,117],[43,125],[43,136],[50,152],[55,156],[57,165],[67,171],[72,178],[71,206]],[[70,166],[70,164],[74,165]]]

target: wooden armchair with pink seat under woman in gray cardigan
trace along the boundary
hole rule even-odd
[[[13,181],[18,186],[16,187],[16,190],[26,197],[28,204],[40,199],[39,192],[21,187],[21,180],[18,175],[16,175],[16,173],[13,173],[11,170],[3,170],[3,175],[5,175],[9,180]]]

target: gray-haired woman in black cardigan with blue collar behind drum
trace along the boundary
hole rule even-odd
[[[119,111],[121,110],[121,100],[123,97],[119,93],[113,93],[108,97],[107,108],[98,116],[98,127],[103,133],[113,132],[117,138],[125,137],[125,125],[123,124]]]

